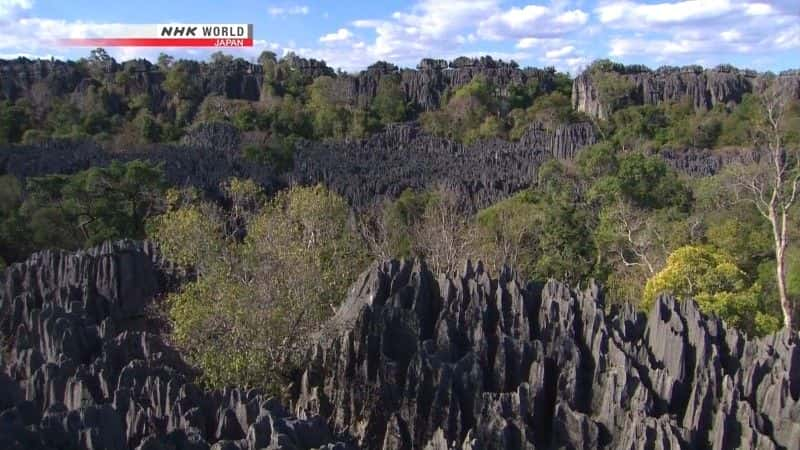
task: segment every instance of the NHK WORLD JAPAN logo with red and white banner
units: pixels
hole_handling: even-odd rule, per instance
[[[70,47],[252,47],[252,24],[173,23],[87,26],[80,36],[59,39]]]

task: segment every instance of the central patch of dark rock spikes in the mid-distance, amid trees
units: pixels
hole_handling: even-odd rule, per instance
[[[324,183],[356,207],[442,184],[476,209],[529,186],[543,161],[570,159],[596,139],[591,124],[578,123],[556,130],[532,126],[519,142],[463,145],[400,124],[365,140],[304,147],[289,181]]]

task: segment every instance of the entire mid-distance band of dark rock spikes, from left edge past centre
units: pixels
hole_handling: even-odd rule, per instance
[[[529,186],[543,160],[571,158],[596,139],[591,124],[579,123],[552,131],[533,126],[519,142],[490,140],[465,146],[408,123],[365,140],[301,142],[294,169],[277,174],[239,155],[240,138],[233,126],[213,123],[190,130],[180,146],[124,153],[70,142],[0,148],[0,174],[27,178],[74,173],[114,159],[145,159],[163,163],[169,183],[212,194],[218,194],[220,183],[230,177],[251,178],[269,192],[290,183],[324,183],[361,207],[405,188],[444,183],[455,189],[466,209],[475,209]]]

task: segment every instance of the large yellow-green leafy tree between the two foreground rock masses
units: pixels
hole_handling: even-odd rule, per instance
[[[196,200],[150,221],[165,255],[198,269],[196,281],[168,298],[175,341],[207,385],[277,393],[362,270],[363,248],[345,201],[322,187],[281,191],[266,204],[251,181],[224,189],[246,222],[243,240],[219,210]]]

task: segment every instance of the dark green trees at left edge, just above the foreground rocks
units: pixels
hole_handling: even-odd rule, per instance
[[[143,238],[161,211],[163,171],[142,161],[73,175],[0,177],[0,248],[7,262],[41,248],[77,249],[109,239]]]

